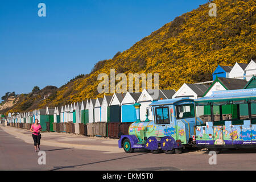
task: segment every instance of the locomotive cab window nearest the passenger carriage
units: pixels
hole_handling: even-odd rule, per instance
[[[176,118],[193,118],[195,117],[195,106],[193,104],[176,105]]]

